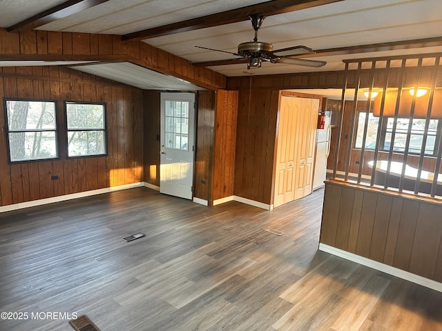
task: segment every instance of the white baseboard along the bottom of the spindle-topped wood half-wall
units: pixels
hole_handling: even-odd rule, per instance
[[[342,257],[343,259],[347,259],[349,261],[353,261],[362,265],[365,265],[369,268],[373,268],[387,274],[392,274],[395,277],[405,279],[406,281],[411,281],[412,283],[416,283],[426,288],[431,288],[432,290],[436,290],[438,292],[442,292],[442,283],[437,281],[433,281],[432,279],[427,279],[425,277],[419,276],[417,274],[412,274],[411,272],[407,272],[405,270],[401,270],[398,268],[394,268],[391,265],[386,265],[381,262],[373,261],[367,259],[366,257],[361,257],[360,255],[356,255],[345,250],[340,250],[339,248],[335,248],[329,245],[325,245],[324,243],[319,244],[319,250],[323,252],[327,252],[329,254],[336,255],[337,257]]]

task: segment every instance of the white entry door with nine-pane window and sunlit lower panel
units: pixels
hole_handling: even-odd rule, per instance
[[[195,94],[161,94],[160,192],[192,199]]]

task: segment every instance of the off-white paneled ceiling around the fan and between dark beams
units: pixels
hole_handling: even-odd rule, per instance
[[[0,25],[12,26],[62,2],[64,1],[0,0]],[[109,0],[77,14],[52,21],[38,29],[127,34],[262,2],[267,1]],[[345,0],[269,16],[262,24],[258,39],[273,43],[274,49],[305,45],[315,50],[441,37],[441,12],[441,0]],[[189,61],[211,61],[231,59],[235,56],[202,50],[195,46],[236,52],[238,43],[252,39],[251,23],[242,21],[147,39],[144,42]],[[262,68],[255,70],[247,70],[245,64],[209,68],[227,76],[343,70],[343,59],[430,52],[442,52],[442,46],[310,58],[327,61],[325,67],[317,69],[279,63],[264,63]],[[109,66],[116,65],[106,65],[102,71],[105,71],[104,68],[108,70]],[[91,66],[90,70],[93,70]]]

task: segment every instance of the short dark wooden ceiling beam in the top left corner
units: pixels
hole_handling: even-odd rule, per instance
[[[6,28],[6,30],[8,32],[25,32],[32,30],[52,21],[56,21],[57,19],[64,19],[64,17],[68,17],[69,15],[87,10],[88,8],[97,6],[106,1],[108,0],[69,0],[10,26],[9,28]]]

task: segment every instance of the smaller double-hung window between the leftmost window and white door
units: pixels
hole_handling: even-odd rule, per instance
[[[104,103],[66,102],[68,157],[106,155]]]

